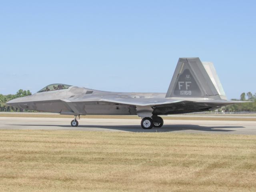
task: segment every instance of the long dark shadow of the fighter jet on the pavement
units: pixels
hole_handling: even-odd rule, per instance
[[[207,132],[232,132],[235,130],[227,130],[225,128],[244,128],[243,126],[200,126],[200,125],[188,125],[188,124],[175,124],[164,125],[161,128],[142,129],[140,125],[79,125],[78,127],[71,127],[70,125],[35,125],[35,124],[13,124],[12,126],[45,126],[45,127],[60,127],[64,130],[97,130],[97,128],[122,130],[128,132],[172,132],[172,131],[184,131],[184,130],[196,130]]]

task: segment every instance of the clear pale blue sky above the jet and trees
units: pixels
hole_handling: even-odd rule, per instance
[[[1,1],[0,93],[52,83],[166,92],[179,57],[256,92],[255,1]]]

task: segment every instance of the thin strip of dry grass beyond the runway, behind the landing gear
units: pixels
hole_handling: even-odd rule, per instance
[[[209,116],[210,115],[210,116]],[[170,119],[170,120],[232,120],[232,121],[256,121],[255,114],[248,114],[248,115],[225,115],[225,114],[218,114],[218,115],[196,115],[193,116],[162,116],[163,119]],[[44,117],[44,118],[73,118],[72,115],[60,115],[60,114],[48,114],[48,113],[0,113],[0,117]],[[248,118],[250,117],[250,118]],[[138,116],[134,115],[81,115],[81,118],[107,118],[107,119],[141,119]]]

